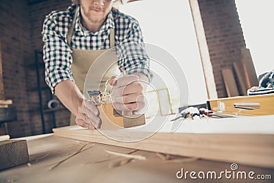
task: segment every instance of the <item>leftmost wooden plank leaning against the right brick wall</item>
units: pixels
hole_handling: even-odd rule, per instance
[[[239,95],[237,84],[232,72],[232,69],[222,69],[223,82],[228,97],[235,97]]]

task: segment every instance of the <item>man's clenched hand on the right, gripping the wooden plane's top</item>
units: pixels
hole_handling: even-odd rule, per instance
[[[118,80],[110,79],[112,99],[116,110],[140,111],[145,108],[144,86],[138,75],[125,75]]]

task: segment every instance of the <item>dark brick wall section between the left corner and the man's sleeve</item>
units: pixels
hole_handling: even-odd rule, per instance
[[[29,1],[28,3],[28,14],[29,14],[29,35],[31,40],[31,45],[33,50],[42,51],[42,23],[45,19],[45,16],[53,10],[66,10],[66,8],[71,5],[71,0],[45,0],[45,1]],[[39,62],[42,62],[42,55],[39,55]],[[33,53],[34,57],[34,53]],[[34,63],[34,59],[32,60]],[[44,103],[43,108],[47,109],[47,102],[52,97],[50,96],[50,91],[47,88],[45,83],[45,69],[42,67],[40,70],[40,83],[42,85],[42,101]],[[34,81],[35,80],[35,81]],[[36,82],[36,73],[29,72],[27,76],[27,82],[29,84]],[[33,86],[29,86],[33,87]],[[30,106],[32,108],[39,108],[38,103],[38,93],[36,95],[32,94],[32,99],[29,99]],[[47,111],[47,110],[46,110]],[[69,125],[70,112],[69,110],[58,110],[55,111],[55,122],[57,127],[64,125]],[[32,121],[40,121],[36,123],[36,132],[42,133],[42,124],[40,119],[40,112],[32,112],[31,116]],[[46,132],[51,132],[53,127],[53,116],[51,112],[45,112],[45,130]]]

